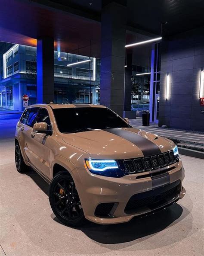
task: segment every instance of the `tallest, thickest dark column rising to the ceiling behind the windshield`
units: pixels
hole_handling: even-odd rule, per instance
[[[126,12],[124,5],[103,1],[100,104],[121,116],[124,110]]]

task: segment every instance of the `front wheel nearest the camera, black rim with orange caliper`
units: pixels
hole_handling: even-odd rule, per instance
[[[49,187],[49,203],[53,213],[63,224],[77,227],[85,217],[74,180],[67,171],[54,176]]]

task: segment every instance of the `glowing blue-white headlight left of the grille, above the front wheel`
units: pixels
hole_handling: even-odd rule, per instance
[[[85,159],[85,163],[90,171],[103,172],[105,170],[118,169],[118,165],[115,160]]]

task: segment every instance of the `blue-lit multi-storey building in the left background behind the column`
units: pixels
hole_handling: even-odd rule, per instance
[[[1,51],[0,56],[0,107],[22,111],[24,94],[29,96],[29,105],[37,103],[37,50],[25,45],[3,49],[6,51]],[[99,103],[100,60],[91,58],[90,69],[89,62],[67,67],[68,64],[88,59],[86,56],[54,51],[56,103]]]

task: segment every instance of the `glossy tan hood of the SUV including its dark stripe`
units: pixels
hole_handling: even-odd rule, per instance
[[[113,128],[63,134],[66,143],[93,159],[146,157],[172,150],[174,143],[137,128]]]

